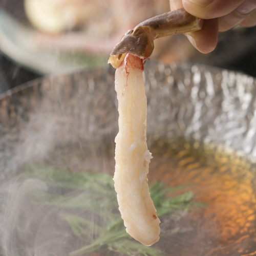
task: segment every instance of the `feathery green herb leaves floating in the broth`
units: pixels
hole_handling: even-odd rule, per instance
[[[122,255],[164,255],[156,247],[146,247],[130,238],[126,233],[123,220],[117,210],[118,204],[114,191],[113,176],[109,174],[69,173],[46,166],[31,166],[26,175],[45,181],[55,188],[54,193],[48,193],[44,199],[33,199],[33,203],[64,207],[66,209],[83,209],[84,218],[63,211],[60,215],[71,227],[75,236],[84,241],[84,247],[70,252],[71,256],[91,252],[100,252],[101,248]],[[56,188],[61,188],[56,193]],[[151,187],[151,196],[157,208],[158,216],[174,214],[176,210],[187,211],[198,205],[191,201],[194,197],[191,191],[170,197],[183,187],[167,187],[157,181]],[[75,191],[74,194],[71,192]],[[91,214],[98,216],[100,221],[92,222]],[[90,230],[93,229],[93,234]],[[113,254],[111,254],[113,255]]]

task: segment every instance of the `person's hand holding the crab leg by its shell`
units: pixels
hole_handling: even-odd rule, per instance
[[[204,19],[202,30],[187,33],[191,44],[202,53],[213,51],[218,31],[227,31],[237,25],[256,25],[255,0],[169,0],[171,11],[184,8],[190,14]]]

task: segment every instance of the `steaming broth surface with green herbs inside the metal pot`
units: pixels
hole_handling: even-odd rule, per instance
[[[148,179],[161,220],[158,243],[144,247],[127,235],[112,175],[90,170],[72,174],[33,165],[8,184],[12,198],[19,200],[18,205],[10,202],[16,207],[10,218],[17,218],[10,231],[10,237],[15,233],[16,238],[9,241],[12,248],[15,245],[14,255],[27,255],[28,250],[35,255],[124,255],[114,249],[130,251],[127,255],[213,256],[248,255],[256,250],[252,182],[256,167],[249,160],[181,138],[151,141],[151,151],[154,159]],[[157,181],[163,184],[158,190]],[[162,215],[166,208],[156,198],[171,187],[165,196],[173,198],[168,205],[172,209]]]

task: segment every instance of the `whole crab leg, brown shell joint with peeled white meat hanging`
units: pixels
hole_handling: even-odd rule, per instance
[[[127,233],[143,245],[159,240],[160,220],[147,185],[152,158],[146,144],[146,95],[143,64],[154,50],[154,39],[201,29],[200,19],[184,9],[145,20],[127,31],[111,52],[116,68],[119,133],[116,136],[115,190]]]

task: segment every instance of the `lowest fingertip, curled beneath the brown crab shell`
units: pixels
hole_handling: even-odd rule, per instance
[[[218,42],[218,19],[204,20],[201,30],[186,34],[191,44],[202,53],[212,52]]]

